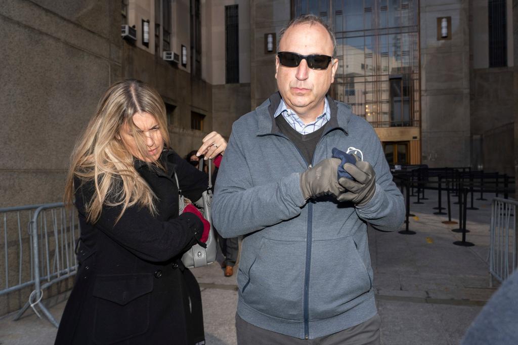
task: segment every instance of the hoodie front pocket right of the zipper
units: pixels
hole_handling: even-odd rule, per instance
[[[372,280],[352,237],[313,241],[310,320],[334,317],[361,303]]]

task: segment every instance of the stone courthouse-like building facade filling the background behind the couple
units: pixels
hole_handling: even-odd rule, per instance
[[[77,137],[104,90],[123,78],[159,90],[178,153],[197,148],[210,131],[228,138],[232,123],[277,89],[280,29],[309,12],[329,20],[339,38],[341,69],[330,92],[372,123],[388,160],[514,175],[516,6],[512,0],[2,1],[0,207],[62,199]],[[505,27],[499,43],[505,61],[500,56],[497,63],[490,9],[500,38]],[[121,25],[134,26],[136,39],[123,39]],[[164,60],[164,52],[177,62]],[[0,314],[19,309],[29,292],[0,296]]]

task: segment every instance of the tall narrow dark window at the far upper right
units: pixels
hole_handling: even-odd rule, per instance
[[[507,66],[506,0],[489,0],[489,66]]]

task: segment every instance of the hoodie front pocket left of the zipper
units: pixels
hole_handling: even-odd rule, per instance
[[[305,241],[261,240],[260,249],[241,282],[249,307],[271,317],[303,319]]]

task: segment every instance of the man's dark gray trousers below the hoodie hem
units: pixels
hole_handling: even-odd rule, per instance
[[[271,332],[252,325],[236,313],[238,345],[380,345],[379,314],[369,320],[328,336],[305,340]]]

